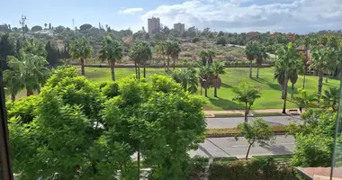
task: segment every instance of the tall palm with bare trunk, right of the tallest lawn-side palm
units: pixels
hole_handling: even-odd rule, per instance
[[[318,94],[319,100],[320,95],[322,94],[322,86],[323,86],[323,74],[329,71],[330,61],[332,59],[332,49],[330,48],[319,48],[315,49],[312,53],[311,60],[311,69],[314,69],[318,72],[319,76],[319,85],[318,85]]]

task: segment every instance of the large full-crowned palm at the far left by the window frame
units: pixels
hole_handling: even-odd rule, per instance
[[[23,50],[20,52],[20,58],[9,56],[8,67],[4,71],[4,81],[14,82],[18,87],[12,88],[12,94],[17,93],[18,89],[26,88],[27,96],[33,94],[34,90],[39,90],[50,76],[47,65],[49,64],[45,58],[37,55],[26,54]],[[16,78],[14,80],[13,78]],[[11,86],[11,85],[10,85]],[[14,98],[12,96],[12,98]]]

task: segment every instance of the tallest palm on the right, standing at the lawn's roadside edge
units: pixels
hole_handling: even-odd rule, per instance
[[[286,113],[287,83],[290,75],[301,67],[302,60],[298,59],[298,52],[293,48],[293,43],[287,45],[287,49],[277,51],[278,59],[275,61],[275,78],[283,86],[284,107],[283,113]]]

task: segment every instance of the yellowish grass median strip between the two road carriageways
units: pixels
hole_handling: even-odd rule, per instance
[[[279,132],[287,132],[288,126],[285,125],[278,125],[278,126],[271,126],[271,129],[275,133]],[[236,137],[241,134],[241,131],[238,128],[218,128],[218,129],[207,129],[205,131],[205,136],[207,137],[221,137],[221,136],[229,136],[229,137]]]

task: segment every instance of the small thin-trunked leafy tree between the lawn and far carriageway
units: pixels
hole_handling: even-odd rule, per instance
[[[261,90],[258,87],[248,85],[246,82],[242,82],[233,89],[236,95],[233,101],[238,103],[244,103],[245,105],[245,122],[248,121],[248,114],[253,103],[261,97]]]

